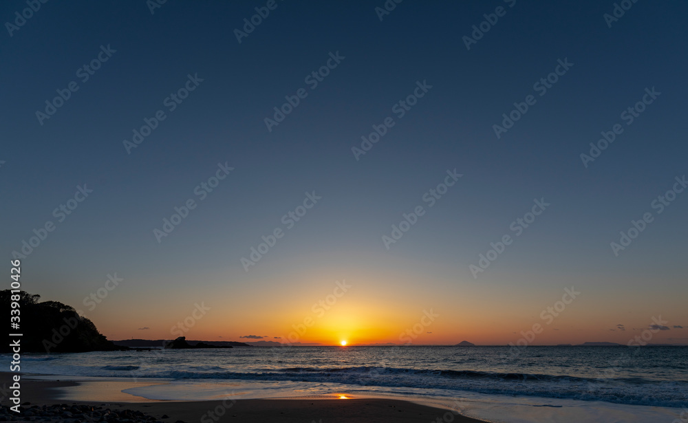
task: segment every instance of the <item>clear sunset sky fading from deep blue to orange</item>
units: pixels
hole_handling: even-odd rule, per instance
[[[685,2],[39,3],[0,243],[109,339],[688,344]]]

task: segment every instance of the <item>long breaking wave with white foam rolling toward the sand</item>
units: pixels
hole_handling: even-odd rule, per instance
[[[616,404],[688,406],[688,382],[666,382],[643,378],[579,378],[531,373],[493,373],[395,367],[290,367],[265,371],[157,371],[141,377],[173,379],[261,380],[330,382],[365,387],[404,387],[472,391],[500,395],[528,395]]]

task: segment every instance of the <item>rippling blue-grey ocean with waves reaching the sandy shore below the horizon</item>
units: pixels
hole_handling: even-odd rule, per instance
[[[491,421],[534,421],[526,420],[535,415],[528,410],[548,407],[548,413],[537,411],[550,415],[543,421],[568,421],[569,411],[587,411],[596,416],[590,421],[688,422],[688,347],[235,347],[27,354],[22,371],[165,380],[125,391],[155,400],[347,393],[442,404]],[[506,407],[511,411],[502,410]],[[597,420],[600,415],[605,420]]]

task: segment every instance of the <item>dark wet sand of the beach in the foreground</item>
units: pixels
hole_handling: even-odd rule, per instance
[[[10,373],[0,373],[3,406],[13,405],[5,390],[12,384]],[[216,422],[481,422],[452,411],[402,400],[379,398],[237,400],[237,401],[148,401],[120,393],[125,387],[147,382],[72,382],[21,380],[21,402],[30,405],[74,403],[103,406],[112,410],[129,409],[153,415],[165,423]],[[65,393],[68,393],[65,396]],[[109,398],[109,400],[106,400]],[[130,402],[129,402],[130,401]],[[211,414],[212,413],[212,414]],[[162,415],[169,417],[162,418]]]

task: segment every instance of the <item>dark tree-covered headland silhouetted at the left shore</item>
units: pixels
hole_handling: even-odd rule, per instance
[[[79,316],[74,307],[58,301],[39,303],[40,295],[21,291],[12,294],[10,290],[0,291],[2,310],[12,310],[12,303],[19,303],[21,321],[19,330],[3,330],[0,352],[10,352],[9,333],[19,332],[21,352],[87,352],[127,349],[111,343],[98,332],[89,319]],[[9,313],[8,313],[9,314]]]

